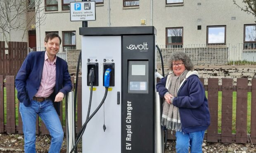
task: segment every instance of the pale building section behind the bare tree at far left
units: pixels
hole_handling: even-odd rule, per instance
[[[29,46],[36,47],[35,0],[1,1],[0,5],[0,41],[5,46],[7,42],[30,42]]]

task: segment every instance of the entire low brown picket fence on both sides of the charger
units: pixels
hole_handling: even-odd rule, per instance
[[[6,76],[6,82],[3,81],[4,77],[0,76],[0,133],[20,133],[22,134],[22,122],[20,115],[18,116],[18,125],[15,124],[15,86],[14,76]],[[74,84],[74,78],[72,77],[72,83]],[[78,132],[82,125],[82,91],[81,80],[78,79],[78,97],[77,97],[77,127]],[[201,78],[204,82],[204,79]],[[6,88],[6,125],[4,125],[4,91]],[[251,85],[248,85],[248,79],[237,79],[237,86],[233,86],[233,79],[222,79],[222,85],[218,85],[218,79],[208,79],[208,85],[204,86],[208,92],[209,109],[211,114],[211,125],[209,126],[205,138],[208,142],[226,142],[245,144],[247,142],[256,143],[256,79],[252,79]],[[218,91],[222,91],[222,114],[221,114],[221,133],[218,133]],[[237,92],[236,103],[236,133],[232,133],[232,101],[233,92]],[[251,133],[247,133],[247,94],[251,92]],[[62,104],[65,104],[62,102]],[[62,107],[61,107],[62,108]],[[62,110],[61,110],[62,112]],[[121,115],[121,114],[120,114]],[[60,116],[62,121],[62,114]],[[63,127],[66,132],[66,127]],[[37,123],[37,134],[49,134],[45,128],[45,125],[41,123],[41,126]],[[168,139],[175,139],[175,134],[168,132]]]

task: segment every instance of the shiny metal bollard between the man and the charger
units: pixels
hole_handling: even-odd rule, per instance
[[[74,93],[66,95],[66,152],[70,153],[75,144]]]

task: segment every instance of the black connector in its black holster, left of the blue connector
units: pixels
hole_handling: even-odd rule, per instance
[[[99,63],[87,63],[87,86],[99,86]]]

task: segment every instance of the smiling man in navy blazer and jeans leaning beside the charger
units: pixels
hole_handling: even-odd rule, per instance
[[[61,38],[45,36],[46,51],[29,53],[15,79],[23,122],[25,153],[36,153],[36,117],[40,116],[52,137],[49,153],[58,153],[64,133],[59,121],[60,101],[72,89],[65,60],[56,56]]]

